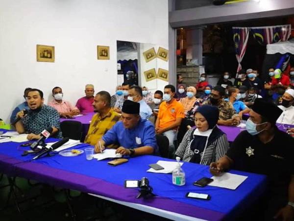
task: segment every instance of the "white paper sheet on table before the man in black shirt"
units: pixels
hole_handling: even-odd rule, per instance
[[[209,186],[221,187],[236,190],[247,178],[247,176],[237,175],[233,173],[222,173],[221,176],[213,176],[213,181]]]

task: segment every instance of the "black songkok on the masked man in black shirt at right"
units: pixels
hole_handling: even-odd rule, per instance
[[[252,111],[257,112],[258,114],[267,118],[267,120],[272,124],[275,124],[283,112],[275,104],[268,102],[264,98],[256,98],[254,100]]]

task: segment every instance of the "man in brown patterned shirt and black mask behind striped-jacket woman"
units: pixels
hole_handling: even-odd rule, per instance
[[[210,98],[203,102],[203,105],[213,105],[220,110],[220,116],[218,124],[225,126],[236,126],[240,124],[240,116],[236,113],[233,105],[225,101],[224,88],[220,85],[216,85],[210,94]]]

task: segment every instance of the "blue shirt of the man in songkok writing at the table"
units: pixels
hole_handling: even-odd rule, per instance
[[[132,129],[126,129],[123,126],[123,122],[118,121],[107,131],[102,139],[106,145],[118,143],[127,149],[150,146],[154,149],[153,154],[158,151],[154,125],[144,119],[140,119],[138,124]]]

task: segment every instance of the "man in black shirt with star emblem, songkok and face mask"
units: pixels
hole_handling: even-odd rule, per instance
[[[220,175],[221,171],[234,168],[247,172],[268,175],[268,190],[265,220],[274,216],[282,220],[294,219],[294,139],[275,126],[282,110],[274,104],[257,98],[246,131],[234,140],[226,155],[217,163],[211,163],[210,171]]]

